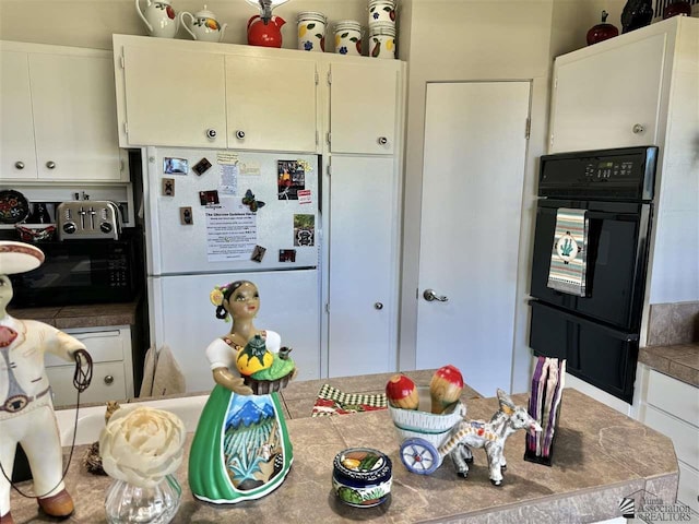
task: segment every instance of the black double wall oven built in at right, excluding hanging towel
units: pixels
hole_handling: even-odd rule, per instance
[[[541,157],[530,346],[574,377],[632,402],[657,147]],[[558,209],[585,210],[584,296],[547,287]]]

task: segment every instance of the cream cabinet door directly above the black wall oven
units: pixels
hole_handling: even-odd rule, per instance
[[[549,152],[655,144],[665,39],[558,59]]]

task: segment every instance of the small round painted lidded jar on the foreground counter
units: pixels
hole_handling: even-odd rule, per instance
[[[345,504],[371,508],[391,492],[391,460],[378,450],[350,448],[333,461],[332,486]]]

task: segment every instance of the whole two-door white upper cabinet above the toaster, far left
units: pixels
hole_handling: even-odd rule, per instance
[[[128,181],[111,55],[2,43],[0,179]]]

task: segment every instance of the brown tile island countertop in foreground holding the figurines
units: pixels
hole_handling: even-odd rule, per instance
[[[426,385],[430,373],[406,374],[418,385]],[[642,490],[664,503],[675,500],[678,469],[672,441],[573,389],[564,394],[553,466],[522,458],[524,432],[519,431],[505,448],[508,468],[499,488],[488,480],[483,450],[474,451],[475,462],[467,479],[457,476],[449,458],[431,475],[410,473],[400,461],[401,440],[388,410],[309,417],[319,384],[327,382],[344,392],[378,392],[388,377],[390,373],[292,383],[284,396],[291,415],[287,427],[294,444],[294,465],[284,484],[254,501],[203,503],[188,489],[185,458],[177,473],[182,500],[173,522],[582,523],[620,516],[619,500],[636,497]],[[497,400],[474,396],[470,389],[462,395],[469,417],[489,419],[497,409]],[[525,404],[526,395],[513,395],[513,400]],[[351,508],[332,492],[332,461],[337,452],[351,446],[379,449],[393,462],[392,492],[383,504]],[[67,476],[76,509],[66,522],[105,522],[104,497],[111,480],[86,473],[82,457],[87,448],[75,449]],[[64,449],[68,453],[69,449]],[[17,523],[54,522],[38,512],[35,501],[22,499],[14,491],[12,514]]]

